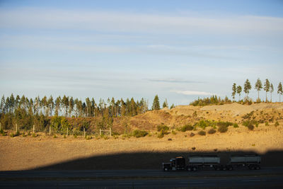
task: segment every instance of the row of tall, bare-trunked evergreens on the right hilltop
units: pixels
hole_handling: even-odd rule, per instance
[[[250,93],[252,86],[250,84],[250,81],[248,79],[246,79],[245,83],[243,84],[243,88],[242,86],[237,86],[236,83],[233,83],[232,86],[232,97],[233,97],[233,101],[235,101],[235,96],[236,93],[239,96],[239,100],[241,101],[241,93],[242,90],[244,93],[246,93],[246,100],[248,100],[248,94]],[[258,78],[258,80],[255,82],[255,90],[258,91],[258,99],[257,102],[261,102],[260,100],[260,91],[263,90],[266,92],[265,93],[265,102],[268,102],[267,99],[267,93],[270,93],[270,102],[272,102],[272,93],[274,92],[274,86],[272,83],[270,83],[270,81],[268,79],[265,79],[265,83],[262,85],[262,81],[260,81],[260,79]],[[279,102],[281,102],[281,96],[283,94],[283,89],[282,89],[282,83],[279,82],[278,86],[277,86],[277,93],[279,94]]]

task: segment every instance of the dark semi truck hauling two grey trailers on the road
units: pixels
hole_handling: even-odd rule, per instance
[[[233,170],[238,166],[247,166],[250,169],[260,169],[260,156],[258,155],[233,155],[229,157],[227,164],[221,164],[221,158],[216,155],[189,156],[186,160],[178,156],[170,160],[170,163],[163,163],[163,171],[197,171],[200,168],[212,167],[216,171]]]

